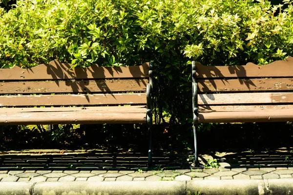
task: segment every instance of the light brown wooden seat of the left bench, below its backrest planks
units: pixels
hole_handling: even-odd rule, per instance
[[[146,106],[2,108],[1,125],[145,123]]]

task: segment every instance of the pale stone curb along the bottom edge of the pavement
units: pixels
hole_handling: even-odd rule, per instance
[[[291,195],[293,179],[3,182],[0,195]]]

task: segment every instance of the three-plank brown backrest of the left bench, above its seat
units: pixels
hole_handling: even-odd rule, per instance
[[[0,69],[0,107],[146,105],[149,63],[71,66],[54,60],[30,69]]]

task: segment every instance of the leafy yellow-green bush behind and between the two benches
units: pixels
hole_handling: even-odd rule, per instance
[[[0,67],[53,59],[83,67],[153,60],[155,122],[176,124],[172,131],[181,139],[178,131],[187,128],[178,124],[190,126],[190,61],[263,65],[292,55],[293,0],[284,4],[283,9],[268,0],[18,0],[9,11],[0,8]]]

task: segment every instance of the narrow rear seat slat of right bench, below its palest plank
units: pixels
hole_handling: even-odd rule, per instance
[[[243,111],[263,111],[263,110],[293,110],[293,105],[225,105],[225,106],[208,106],[200,105],[200,113],[209,112],[243,112]],[[293,114],[293,113],[292,113]]]

